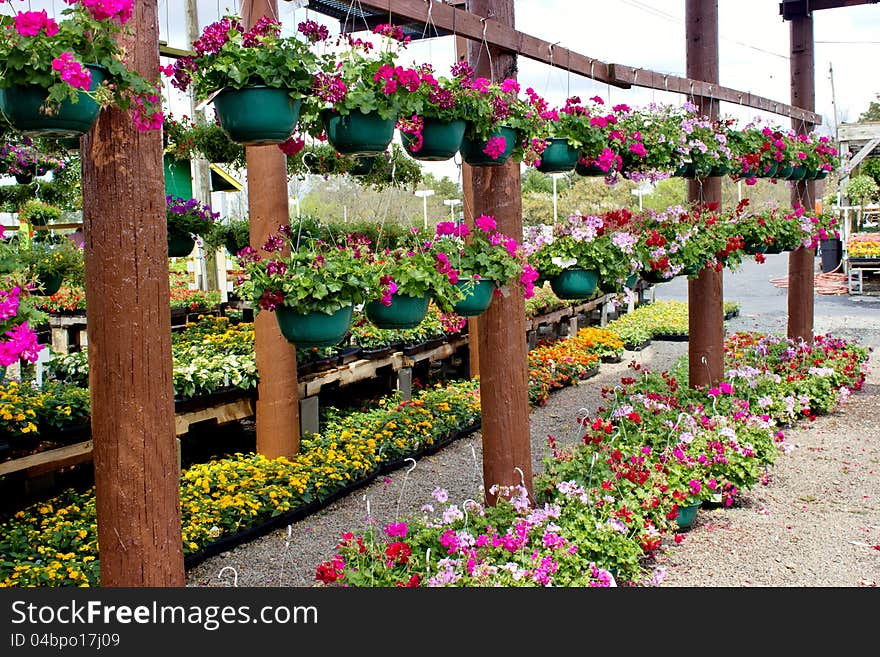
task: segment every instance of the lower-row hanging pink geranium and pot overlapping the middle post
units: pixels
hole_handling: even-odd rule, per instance
[[[516,240],[497,230],[494,217],[477,217],[474,226],[471,231],[467,225],[451,221],[437,224],[434,248],[458,272],[455,285],[464,294],[454,305],[455,313],[462,317],[482,314],[496,291],[506,295],[507,286],[514,282],[523,285],[526,298],[534,296],[531,283],[537,276],[532,276],[531,266],[521,261]]]

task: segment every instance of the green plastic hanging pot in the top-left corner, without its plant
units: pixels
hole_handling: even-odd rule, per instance
[[[107,79],[107,69],[103,66],[86,64],[92,72],[89,91],[98,88]],[[101,106],[83,91],[77,91],[77,102],[64,99],[58,111],[47,114],[40,111],[46,104],[49,94],[38,84],[13,84],[0,89],[0,111],[12,127],[26,135],[37,137],[78,137],[91,130]]]

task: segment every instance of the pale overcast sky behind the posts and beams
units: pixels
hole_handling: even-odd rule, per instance
[[[12,4],[46,8],[50,14],[64,7],[62,0]],[[299,4],[304,3],[300,0]],[[718,5],[720,83],[789,102],[789,26],[779,16],[778,0],[719,0]],[[2,11],[10,11],[5,3],[0,6]],[[159,21],[161,38],[171,46],[186,48],[183,6],[183,0],[159,0]],[[198,0],[199,23],[204,26],[226,13],[238,13],[239,7],[236,0]],[[588,57],[683,76],[684,8],[684,0],[517,0],[515,15],[518,29]],[[327,24],[331,32],[338,31],[338,22],[308,7],[298,8],[294,2],[279,0],[279,13],[287,33],[292,34],[306,18]],[[857,120],[880,93],[880,66],[876,65],[880,59],[880,4],[815,12],[814,38],[816,111],[825,117],[819,130],[833,134],[837,123]],[[415,42],[406,56],[417,62],[430,61],[445,74],[454,61],[453,43],[452,37]],[[612,103],[634,107],[684,100],[663,91],[608,87],[526,58],[519,61],[519,80],[524,88],[531,86],[559,105],[568,94],[583,98],[598,94]],[[173,96],[172,111],[187,112],[188,102],[170,85],[166,85],[166,93]],[[732,103],[722,103],[721,112],[743,123],[757,115],[780,124],[787,122]],[[454,177],[454,166],[448,163],[427,168]]]

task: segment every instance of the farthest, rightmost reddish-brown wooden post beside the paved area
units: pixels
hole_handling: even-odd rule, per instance
[[[791,102],[813,110],[816,106],[816,76],[813,58],[813,17],[797,16],[789,26],[791,41]],[[813,125],[792,119],[798,134],[808,133]],[[798,180],[791,188],[792,206],[803,205],[813,211],[816,183]],[[815,249],[799,248],[788,255],[788,337],[813,341],[813,295]]]

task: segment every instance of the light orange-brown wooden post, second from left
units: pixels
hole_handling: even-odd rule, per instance
[[[242,17],[248,27],[263,16],[278,16],[277,0],[245,0]],[[275,145],[248,146],[248,211],[251,246],[261,255],[266,238],[290,224],[287,208],[287,159]],[[285,250],[282,255],[288,255]],[[260,383],[257,388],[257,452],[269,458],[299,451],[299,396],[296,350],[278,328],[275,314],[257,313],[254,337]]]

